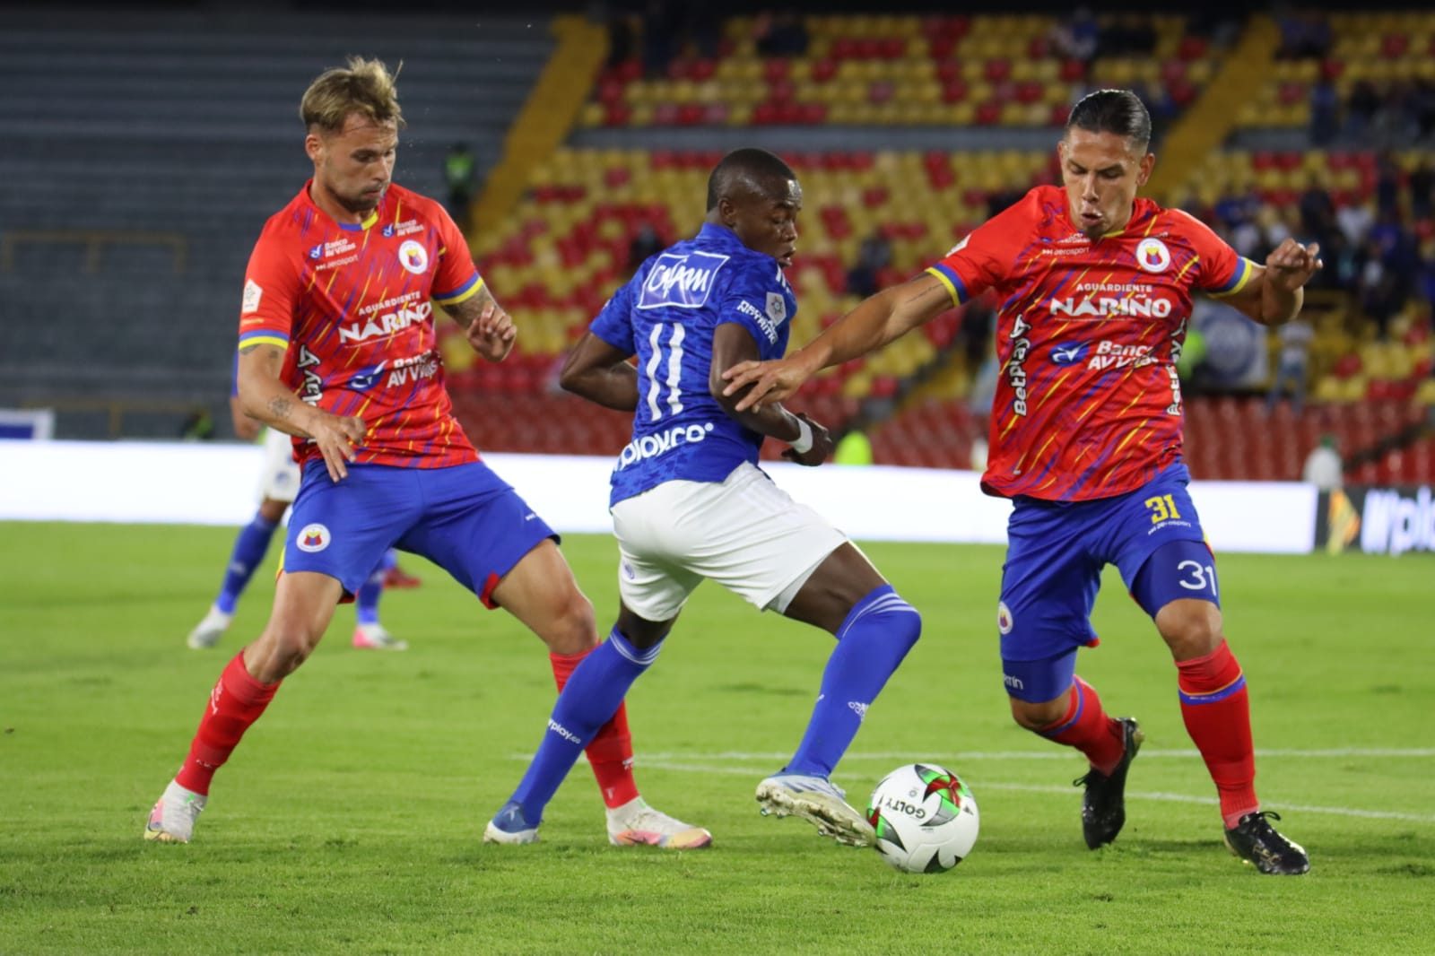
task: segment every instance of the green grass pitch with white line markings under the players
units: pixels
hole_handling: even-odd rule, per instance
[[[1125,833],[1091,853],[1069,785],[1083,761],[1007,716],[1000,548],[870,545],[926,627],[837,782],[862,804],[921,758],[970,782],[976,850],[924,877],[758,814],[829,639],[713,586],[629,698],[644,794],[713,848],[610,847],[583,764],[542,843],[484,845],[552,678],[537,639],[418,558],[423,587],[383,603],[412,649],[353,650],[340,609],[217,777],[195,841],[144,843],[270,574],[221,649],[192,652],[230,530],[0,524],[0,953],[1435,952],[1435,564],[1418,556],[1220,560],[1257,784],[1313,861],[1274,878],[1221,845],[1170,657],[1115,574],[1079,670],[1147,744]],[[606,627],[611,541],[564,550]]]

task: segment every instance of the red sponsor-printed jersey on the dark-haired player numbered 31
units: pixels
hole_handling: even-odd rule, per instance
[[[1036,187],[927,270],[957,304],[997,297],[1000,363],[982,485],[1002,497],[1108,498],[1181,455],[1175,363],[1195,290],[1240,291],[1253,264],[1180,210],[1137,200],[1091,240],[1066,192]]]

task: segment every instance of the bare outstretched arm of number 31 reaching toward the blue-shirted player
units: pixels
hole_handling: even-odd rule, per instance
[[[723,395],[736,396],[746,389],[735,406],[739,412],[781,402],[821,369],[875,352],[947,309],[951,309],[951,294],[946,286],[923,273],[862,300],[827,332],[785,359],[749,360],[728,367],[722,375],[728,382]]]

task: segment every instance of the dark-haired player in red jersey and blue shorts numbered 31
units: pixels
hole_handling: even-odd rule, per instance
[[[1125,823],[1141,744],[1075,676],[1095,646],[1101,570],[1116,564],[1177,666],[1181,713],[1215,782],[1227,845],[1261,873],[1310,868],[1256,798],[1246,679],[1225,643],[1215,561],[1187,494],[1175,363],[1197,291],[1263,324],[1300,311],[1319,248],[1286,240],[1257,264],[1180,210],[1137,198],[1151,116],[1128,90],[1073,109],[1063,187],[1036,187],[911,281],[877,293],[804,349],[729,369],[738,408],[791,396],[818,369],[872,352],[984,290],[1002,367],[983,488],[1013,500],[997,630],[1017,723],[1079,749],[1092,848]]]

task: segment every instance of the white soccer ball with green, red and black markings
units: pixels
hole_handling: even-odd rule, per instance
[[[908,764],[883,777],[867,801],[877,853],[905,873],[943,873],[977,841],[980,815],[971,791],[936,764]]]

